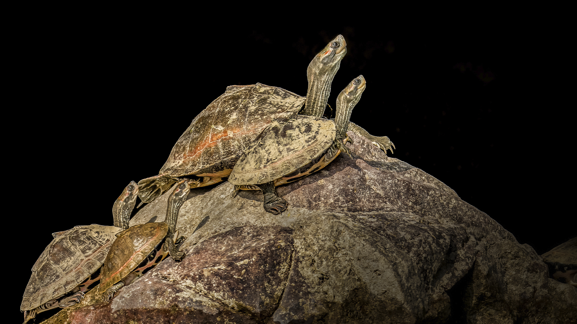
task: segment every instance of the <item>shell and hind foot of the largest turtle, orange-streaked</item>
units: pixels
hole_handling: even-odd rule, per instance
[[[297,115],[304,103],[305,97],[275,86],[260,83],[228,86],[178,139],[160,169],[159,175],[163,177],[138,182],[140,198],[150,202],[170,189],[175,182],[171,177],[193,175],[220,182],[265,127],[273,120]],[[215,182],[200,182],[192,187]]]

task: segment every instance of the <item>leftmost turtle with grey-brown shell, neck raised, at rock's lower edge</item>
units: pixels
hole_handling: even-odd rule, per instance
[[[114,202],[114,226],[79,225],[56,232],[38,261],[24,291],[20,310],[24,323],[36,314],[53,308],[72,306],[100,280],[100,266],[116,239],[128,228],[130,213],[138,197],[138,184],[132,181]]]

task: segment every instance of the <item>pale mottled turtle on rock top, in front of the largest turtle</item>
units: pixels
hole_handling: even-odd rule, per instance
[[[238,190],[261,190],[264,210],[279,214],[287,201],[276,194],[275,186],[301,179],[319,171],[345,152],[349,140],[347,127],[354,106],[365,91],[361,75],[340,92],[334,121],[316,116],[295,116],[286,122],[272,123],[249,146],[228,177]]]

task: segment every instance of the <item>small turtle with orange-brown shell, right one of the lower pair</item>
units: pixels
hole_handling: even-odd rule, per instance
[[[190,192],[188,182],[189,179],[182,179],[175,185],[168,197],[163,222],[134,225],[117,235],[102,267],[99,292],[105,300],[111,299],[119,289],[147,273],[169,253],[175,261],[184,257],[185,254],[178,251],[177,244],[185,238],[181,236],[177,239],[176,225],[178,211]]]

